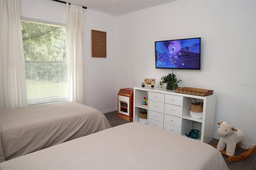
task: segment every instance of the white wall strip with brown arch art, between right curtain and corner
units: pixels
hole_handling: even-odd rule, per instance
[[[101,12],[84,12],[84,59],[86,105],[102,113],[116,111],[116,40],[117,18]],[[91,30],[107,32],[107,57],[91,55]]]

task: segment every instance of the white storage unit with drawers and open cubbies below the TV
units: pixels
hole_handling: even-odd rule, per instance
[[[143,97],[148,97],[148,107],[142,106]],[[189,98],[204,102],[203,118],[190,116]],[[197,96],[175,93],[160,87],[134,87],[133,121],[138,122],[140,109],[148,111],[147,124],[186,136],[191,129],[200,130],[200,138],[208,143],[213,138],[216,95]]]

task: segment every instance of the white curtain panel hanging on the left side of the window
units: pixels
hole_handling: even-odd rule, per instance
[[[0,0],[0,109],[27,106],[19,0]]]

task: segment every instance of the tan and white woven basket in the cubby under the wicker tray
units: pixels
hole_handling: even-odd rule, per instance
[[[196,102],[192,102],[191,99],[194,99],[194,98],[191,98],[191,97],[189,98],[189,100],[191,101],[191,106],[189,109],[190,116],[196,119],[202,119],[204,103],[197,102],[196,99],[194,99]]]

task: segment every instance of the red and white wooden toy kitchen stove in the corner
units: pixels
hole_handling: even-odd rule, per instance
[[[133,121],[133,89],[119,90],[117,116],[126,121]]]

